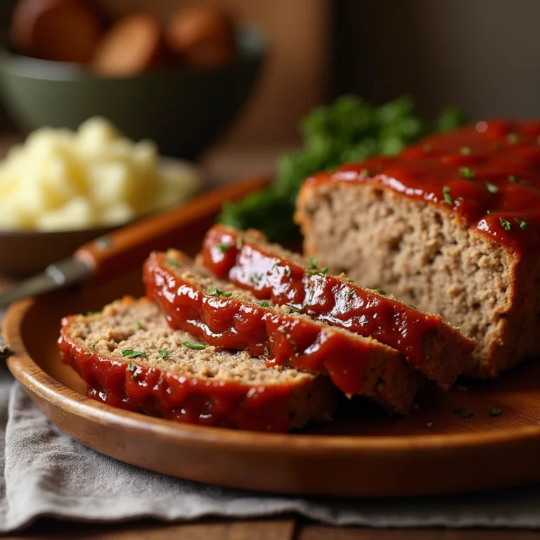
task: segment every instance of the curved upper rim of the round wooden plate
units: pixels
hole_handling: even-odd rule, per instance
[[[163,418],[147,416],[142,413],[117,409],[108,404],[90,399],[75,390],[66,387],[60,381],[46,373],[27,352],[22,323],[32,306],[39,302],[37,298],[28,298],[11,304],[6,311],[2,324],[2,333],[13,352],[8,357],[7,365],[15,379],[25,390],[44,399],[68,413],[84,416],[96,422],[108,420],[122,428],[130,430],[150,430],[160,437],[182,441],[193,446],[208,443],[219,443],[227,449],[245,449],[252,451],[279,451],[302,454],[309,451],[333,455],[336,452],[350,454],[355,452],[383,452],[385,454],[401,454],[403,451],[431,452],[437,449],[444,451],[463,451],[468,448],[477,450],[500,444],[512,444],[529,439],[540,438],[540,426],[524,425],[515,428],[490,430],[487,432],[470,432],[456,434],[422,434],[422,435],[312,435],[303,433],[269,433],[248,430],[229,430],[209,426],[176,423]],[[44,381],[36,376],[40,375]],[[46,381],[46,382],[45,382]],[[62,392],[58,392],[61,387]]]

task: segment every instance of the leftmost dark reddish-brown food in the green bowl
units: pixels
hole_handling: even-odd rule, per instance
[[[98,18],[77,0],[19,0],[11,40],[27,56],[86,63],[98,42]]]

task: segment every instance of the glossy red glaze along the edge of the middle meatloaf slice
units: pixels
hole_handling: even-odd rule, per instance
[[[186,261],[179,263],[189,267]],[[368,341],[285,311],[209,295],[195,280],[182,278],[181,269],[170,269],[162,253],[150,256],[143,274],[147,297],[158,303],[172,328],[210,345],[265,355],[268,364],[328,374],[342,392],[360,392],[372,348]]]

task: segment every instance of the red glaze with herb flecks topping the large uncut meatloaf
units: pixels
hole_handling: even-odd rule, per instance
[[[477,122],[430,136],[396,157],[317,174],[306,184],[364,182],[442,205],[519,258],[524,250],[540,248],[539,137],[540,122]],[[461,167],[468,167],[474,178],[463,178]]]

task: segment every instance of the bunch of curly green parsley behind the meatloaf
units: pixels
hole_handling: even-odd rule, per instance
[[[240,202],[226,203],[219,221],[238,229],[261,229],[270,240],[298,237],[293,213],[304,179],[345,162],[396,155],[425,135],[451,131],[463,123],[455,108],[444,110],[437,122],[420,120],[410,98],[375,107],[359,96],[341,96],[332,105],[315,108],[302,120],[302,149],[281,155],[276,182]]]

